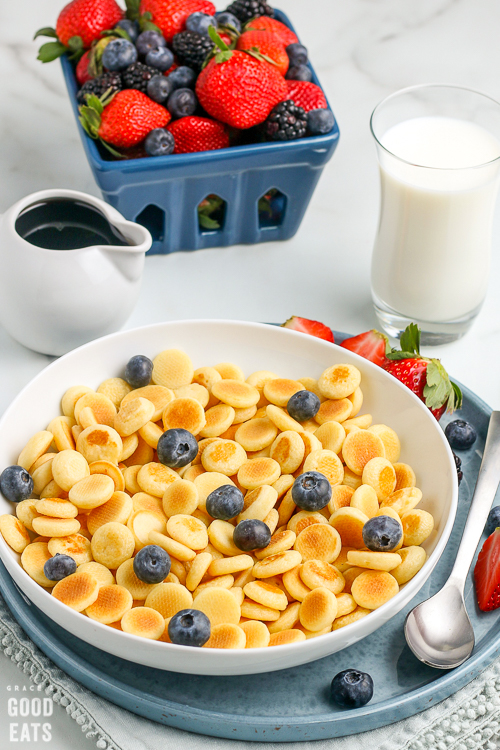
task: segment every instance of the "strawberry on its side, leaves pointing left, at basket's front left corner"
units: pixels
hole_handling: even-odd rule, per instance
[[[119,91],[112,98],[87,97],[80,107],[80,122],[86,133],[100,140],[114,156],[122,154],[107,144],[130,148],[140,143],[151,130],[164,128],[170,112],[137,89]]]

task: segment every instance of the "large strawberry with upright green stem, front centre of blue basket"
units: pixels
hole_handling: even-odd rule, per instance
[[[218,51],[196,81],[201,106],[214,119],[245,129],[264,122],[286,97],[286,83],[275,65],[255,52],[230,50],[209,27]]]

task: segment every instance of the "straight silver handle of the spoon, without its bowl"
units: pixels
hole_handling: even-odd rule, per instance
[[[479,469],[476,488],[471,501],[467,523],[449,581],[463,590],[465,579],[484,531],[491,504],[500,483],[500,411],[490,417],[483,460]]]

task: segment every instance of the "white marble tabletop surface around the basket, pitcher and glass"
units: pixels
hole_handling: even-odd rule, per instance
[[[98,195],[60,66],[42,66],[38,43],[30,41],[36,29],[55,24],[61,6],[61,0],[0,4],[0,212],[44,188]],[[301,229],[286,243],[148,258],[141,298],[127,327],[198,317],[283,322],[293,314],[353,333],[375,326],[369,291],[378,214],[368,127],[373,107],[399,88],[430,82],[470,86],[500,99],[496,0],[281,0],[279,7],[309,48],[341,131]],[[486,303],[466,338],[432,350],[456,379],[497,408],[499,250],[497,210]],[[0,412],[47,362],[0,326]],[[7,686],[23,684],[29,684],[27,678],[0,657],[0,750],[92,747],[58,706],[50,743],[10,742],[4,731],[6,697],[15,693]]]

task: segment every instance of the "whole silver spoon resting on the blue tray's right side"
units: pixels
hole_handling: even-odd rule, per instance
[[[408,646],[417,659],[430,667],[458,667],[469,658],[474,648],[474,630],[464,602],[465,579],[499,482],[500,412],[494,411],[469,516],[451,575],[437,594],[412,609],[406,618]]]

